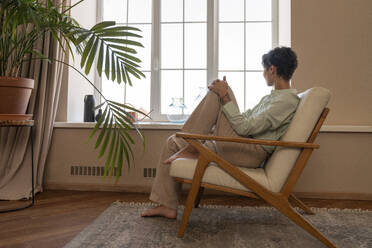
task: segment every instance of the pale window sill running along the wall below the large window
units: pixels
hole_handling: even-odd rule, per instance
[[[96,123],[93,122],[55,122],[54,128],[75,128],[75,129],[92,129]],[[180,130],[183,124],[171,122],[138,122],[139,129],[153,129],[153,130]],[[372,126],[341,126],[341,125],[324,125],[320,129],[321,133],[372,133]]]

